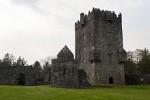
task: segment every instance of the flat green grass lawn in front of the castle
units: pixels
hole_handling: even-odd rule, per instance
[[[150,85],[98,85],[89,89],[0,85],[0,100],[150,100]]]

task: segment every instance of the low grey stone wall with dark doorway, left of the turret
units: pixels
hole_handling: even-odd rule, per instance
[[[34,68],[31,66],[0,66],[0,84],[35,85]]]

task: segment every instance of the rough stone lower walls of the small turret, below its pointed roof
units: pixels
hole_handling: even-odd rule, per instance
[[[72,62],[53,63],[51,84],[59,88],[79,88],[77,64]]]

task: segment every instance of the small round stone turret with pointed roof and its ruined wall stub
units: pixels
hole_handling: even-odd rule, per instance
[[[85,88],[90,84],[86,80],[86,73],[78,69],[78,62],[73,53],[65,46],[52,60],[51,85],[59,88]]]

